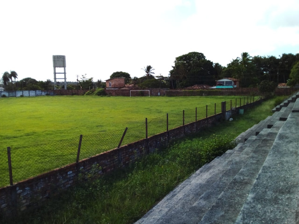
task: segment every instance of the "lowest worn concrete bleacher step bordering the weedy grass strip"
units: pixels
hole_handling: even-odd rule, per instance
[[[264,132],[270,132],[270,129]],[[248,141],[250,143],[239,144],[229,152],[229,156],[224,154],[225,162],[216,162],[210,165],[209,170],[208,165],[204,166],[204,171],[200,169],[193,174],[137,223],[182,223],[182,220],[192,223],[192,220],[200,220],[222,193],[223,186],[231,182],[254,150],[259,151],[257,146],[263,141],[262,136],[252,136]],[[210,189],[214,189],[213,192]]]

